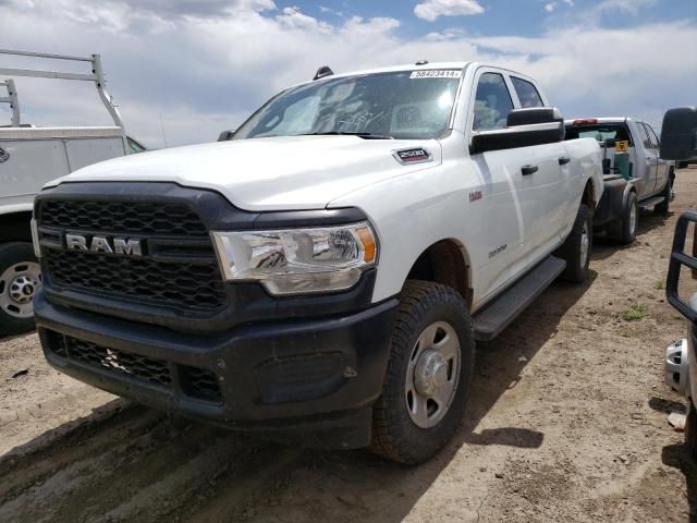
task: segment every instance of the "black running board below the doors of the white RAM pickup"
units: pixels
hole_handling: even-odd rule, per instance
[[[566,262],[549,256],[513,283],[473,317],[475,340],[489,341],[499,336],[566,267]]]

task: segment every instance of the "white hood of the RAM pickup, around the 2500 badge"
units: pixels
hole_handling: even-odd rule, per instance
[[[423,147],[432,161],[402,165],[393,153]],[[175,147],[115,158],[51,182],[175,182],[218,191],[245,210],[321,209],[366,185],[439,165],[435,139],[286,136]]]

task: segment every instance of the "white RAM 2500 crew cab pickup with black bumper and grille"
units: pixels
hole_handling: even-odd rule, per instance
[[[586,277],[600,147],[563,135],[504,69],[321,68],[231,141],[82,169],[35,202],[46,357],[185,416],[423,462],[475,340]]]

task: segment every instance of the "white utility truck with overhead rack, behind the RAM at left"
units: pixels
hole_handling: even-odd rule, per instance
[[[48,181],[76,169],[144,150],[140,144],[125,135],[119,111],[105,90],[98,54],[82,58],[0,49],[0,60],[3,57],[85,64],[89,68],[88,73],[10,69],[0,63],[0,75],[94,82],[114,126],[35,127],[22,124],[15,82],[0,83],[0,105],[9,105],[12,114],[11,124],[0,126],[0,336],[34,328],[33,301],[41,284],[29,229],[36,193]]]

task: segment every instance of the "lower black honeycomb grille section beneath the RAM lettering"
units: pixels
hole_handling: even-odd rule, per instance
[[[44,256],[51,284],[68,289],[204,312],[217,311],[227,301],[215,262],[163,263],[53,248]]]

